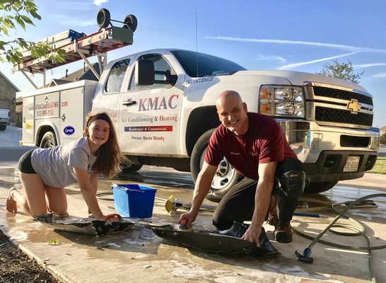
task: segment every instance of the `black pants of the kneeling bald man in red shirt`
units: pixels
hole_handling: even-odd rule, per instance
[[[280,179],[288,171],[305,171],[305,167],[298,159],[286,159],[278,163],[275,172],[276,179]],[[219,230],[226,230],[233,225],[233,221],[242,222],[252,219],[255,209],[256,187],[257,180],[250,178],[243,178],[231,187],[214,212],[214,226]],[[303,192],[304,187],[299,189]],[[281,190],[275,190],[275,187],[272,194],[279,197],[279,221],[291,221],[298,199],[286,197]]]

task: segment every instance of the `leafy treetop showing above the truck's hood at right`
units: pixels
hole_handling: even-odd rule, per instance
[[[360,83],[360,79],[364,72],[365,71],[354,74],[353,64],[351,64],[350,60],[347,60],[347,63],[339,63],[338,59],[335,59],[332,61],[332,64],[324,64],[322,71],[317,74],[343,79],[344,81],[351,81],[351,83]]]

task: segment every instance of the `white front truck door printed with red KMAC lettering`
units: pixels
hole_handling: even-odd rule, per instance
[[[119,110],[119,139],[122,150],[131,154],[180,154],[180,108],[182,88],[165,81],[165,71],[175,74],[160,54],[146,54],[156,71],[151,86],[136,86],[132,71],[128,90],[122,93]]]

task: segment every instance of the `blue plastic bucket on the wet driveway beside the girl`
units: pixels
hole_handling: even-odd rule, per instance
[[[156,189],[137,184],[112,184],[115,211],[125,217],[148,218],[153,214]]]

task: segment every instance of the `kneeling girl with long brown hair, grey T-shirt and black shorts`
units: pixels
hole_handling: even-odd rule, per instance
[[[18,163],[23,193],[11,188],[6,200],[8,212],[17,212],[18,205],[31,216],[47,210],[59,216],[67,214],[64,187],[78,183],[88,213],[104,219],[96,192],[99,175],[117,173],[122,158],[117,135],[105,112],[88,113],[85,137],[70,144],[27,151]]]

